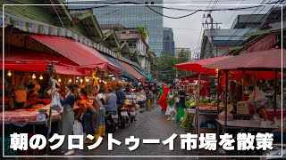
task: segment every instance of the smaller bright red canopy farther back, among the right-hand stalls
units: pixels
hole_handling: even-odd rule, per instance
[[[214,61],[228,59],[231,56],[223,56],[223,57],[214,57],[210,59],[203,60],[191,60],[188,62],[176,64],[175,68],[180,68],[183,70],[189,70],[198,73],[215,73],[215,68],[204,68],[203,65],[208,65],[214,63]]]

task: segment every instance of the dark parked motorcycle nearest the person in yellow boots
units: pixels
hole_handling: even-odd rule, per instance
[[[109,111],[105,114],[105,127],[106,132],[114,133],[116,131],[117,124],[119,122],[119,116],[116,109]]]

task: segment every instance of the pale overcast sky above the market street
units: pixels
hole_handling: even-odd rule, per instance
[[[71,1],[87,1],[87,0],[69,0]],[[95,1],[95,0],[88,0]],[[126,0],[128,2],[128,0]],[[248,7],[250,5],[246,4],[261,4],[261,3],[271,3],[276,2],[278,0],[164,0],[164,4],[183,4],[183,5],[172,5],[165,7],[172,8],[180,8],[180,9],[188,9],[188,10],[198,10],[198,9],[212,9],[212,8],[237,8],[237,7]],[[144,2],[144,1],[142,1]],[[197,5],[188,5],[187,4],[197,4]],[[206,5],[198,5],[198,4],[206,4]],[[214,6],[214,4],[217,4]],[[222,6],[219,4],[237,4]],[[208,6],[209,5],[209,6]],[[212,17],[214,18],[214,22],[222,23],[220,25],[221,28],[231,28],[231,24],[233,20],[239,14],[253,14],[259,13],[263,14],[268,12],[268,10],[272,6],[260,6],[259,8],[252,8],[248,11],[217,11],[212,12]],[[150,11],[152,12],[152,11]],[[177,11],[177,10],[169,10],[164,9],[164,15],[172,16],[172,17],[180,17],[186,14],[189,14],[193,11]],[[175,46],[177,47],[188,47],[191,50],[196,50],[199,47],[200,42],[200,33],[202,29],[202,20],[203,15],[207,12],[197,12],[189,17],[182,19],[169,19],[164,18],[164,27],[172,28],[174,34]],[[206,19],[205,19],[206,20]],[[204,20],[204,21],[205,21]],[[204,29],[202,29],[203,31]],[[196,51],[194,51],[196,52]]]

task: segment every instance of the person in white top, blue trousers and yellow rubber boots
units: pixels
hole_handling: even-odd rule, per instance
[[[98,137],[105,136],[105,89],[100,88],[96,97],[97,104],[99,105],[98,112]]]

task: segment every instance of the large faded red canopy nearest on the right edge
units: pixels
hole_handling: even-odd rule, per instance
[[[282,60],[286,61],[286,55],[282,54],[285,50],[270,49],[263,52],[249,52],[229,59],[217,60],[203,65],[204,68],[218,69],[243,69],[243,68],[286,68],[286,63],[282,65]]]

